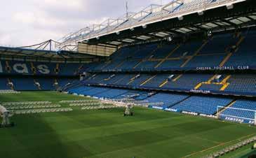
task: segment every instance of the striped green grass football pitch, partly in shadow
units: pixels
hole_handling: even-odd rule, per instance
[[[86,99],[58,92],[0,94],[1,102]],[[69,107],[67,103],[60,103]],[[202,157],[256,135],[246,124],[135,108],[14,115],[15,127],[0,129],[3,158]]]

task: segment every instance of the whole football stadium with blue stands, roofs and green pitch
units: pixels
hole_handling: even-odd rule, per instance
[[[1,157],[255,157],[256,1],[133,11],[0,46]]]

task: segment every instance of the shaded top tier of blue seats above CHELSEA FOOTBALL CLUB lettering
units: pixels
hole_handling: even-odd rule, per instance
[[[151,43],[128,46],[114,52],[109,57],[110,62],[89,64],[86,71],[197,70],[218,69],[219,66],[234,66],[234,69],[247,66],[256,69],[256,50],[253,45],[255,32],[242,35],[217,34],[209,39],[178,44]]]

